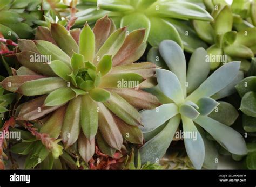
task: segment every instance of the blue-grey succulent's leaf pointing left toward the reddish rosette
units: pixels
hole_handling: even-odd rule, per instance
[[[174,103],[163,104],[156,109],[143,110],[140,112],[140,115],[142,116],[144,127],[140,127],[140,129],[143,133],[153,131],[178,113],[178,107]]]

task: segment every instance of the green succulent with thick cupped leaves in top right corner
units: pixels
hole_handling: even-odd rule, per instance
[[[242,1],[233,1],[231,7],[225,1],[220,4],[219,1],[212,4],[211,11],[214,18],[212,23],[200,20],[192,21],[198,36],[211,45],[207,49],[208,54],[213,56],[210,59],[211,69],[218,68],[220,63],[241,60],[241,69],[248,70],[250,63],[245,59],[250,59],[256,54],[256,28],[247,26],[238,31],[233,28],[234,23],[244,21],[240,15],[234,14],[234,12],[238,12],[238,9],[234,7],[237,7],[239,2]],[[232,12],[232,8],[234,12]],[[242,14],[243,11],[240,12]]]

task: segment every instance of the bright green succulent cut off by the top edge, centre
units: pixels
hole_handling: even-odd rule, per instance
[[[193,1],[192,1],[193,2]],[[129,26],[128,31],[147,28],[144,41],[158,46],[161,41],[176,41],[188,52],[198,47],[207,47],[187,20],[213,21],[210,14],[190,1],[163,0],[88,0],[77,8],[79,27],[87,21],[94,23],[98,17],[110,16],[118,27]]]

